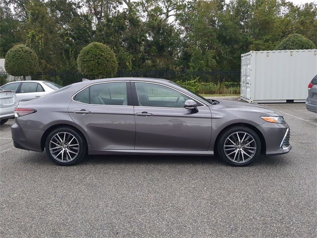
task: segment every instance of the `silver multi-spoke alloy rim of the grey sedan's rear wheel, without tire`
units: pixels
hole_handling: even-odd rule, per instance
[[[50,153],[55,160],[66,163],[74,160],[79,153],[79,143],[68,132],[58,132],[50,141]]]

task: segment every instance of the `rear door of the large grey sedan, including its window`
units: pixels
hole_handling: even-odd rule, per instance
[[[93,84],[77,93],[68,108],[71,118],[98,150],[134,149],[135,122],[130,82]]]

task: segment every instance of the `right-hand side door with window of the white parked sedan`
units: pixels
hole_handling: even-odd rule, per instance
[[[45,94],[41,84],[37,82],[23,82],[18,93],[16,94],[17,100],[29,98],[39,98]]]

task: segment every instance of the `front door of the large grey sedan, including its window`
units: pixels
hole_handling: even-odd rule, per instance
[[[197,113],[184,108],[191,99],[157,83],[132,84],[136,150],[208,150],[211,111],[201,103]]]

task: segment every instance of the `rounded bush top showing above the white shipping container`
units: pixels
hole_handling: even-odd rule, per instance
[[[315,49],[315,44],[300,34],[289,35],[284,38],[275,50],[310,50]]]

